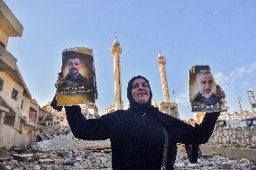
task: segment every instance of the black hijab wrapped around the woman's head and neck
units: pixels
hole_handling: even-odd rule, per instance
[[[148,101],[148,103],[136,103],[133,99],[133,95],[132,95],[132,90],[133,90],[133,82],[135,79],[138,78],[142,78],[145,80],[145,82],[149,85],[149,89],[150,89],[150,99]],[[151,92],[151,85],[149,80],[147,80],[147,78],[145,78],[144,76],[133,76],[133,78],[129,81],[128,83],[128,87],[127,87],[127,98],[129,100],[130,103],[130,110],[132,110],[133,112],[149,112],[152,109],[156,110],[156,108],[154,108],[151,105],[151,99],[152,99],[152,92]]]

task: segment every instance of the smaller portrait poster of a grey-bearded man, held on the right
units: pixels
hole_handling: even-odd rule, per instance
[[[189,70],[189,101],[192,112],[221,110],[221,99],[216,96],[215,78],[209,66],[194,66]]]

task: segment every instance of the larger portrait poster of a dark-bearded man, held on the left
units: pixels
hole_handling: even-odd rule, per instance
[[[92,49],[65,49],[61,73],[63,81],[57,86],[58,106],[95,103],[97,91]]]

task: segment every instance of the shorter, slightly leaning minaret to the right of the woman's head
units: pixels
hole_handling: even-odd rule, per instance
[[[166,61],[165,58],[163,57],[163,54],[159,53],[158,64],[160,66],[160,80],[162,85],[163,101],[169,103],[169,90],[165,73],[165,63]]]

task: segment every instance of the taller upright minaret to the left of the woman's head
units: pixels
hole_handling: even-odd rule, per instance
[[[120,43],[114,38],[111,49],[112,55],[114,57],[114,94],[115,103],[114,111],[123,109],[122,103],[122,91],[121,91],[121,66],[120,66],[120,56],[122,53],[122,48]]]

